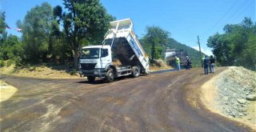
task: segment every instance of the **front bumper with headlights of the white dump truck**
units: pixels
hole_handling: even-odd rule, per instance
[[[106,70],[99,69],[99,70],[79,70],[79,74],[84,75],[86,77],[98,77],[98,78],[105,78]]]

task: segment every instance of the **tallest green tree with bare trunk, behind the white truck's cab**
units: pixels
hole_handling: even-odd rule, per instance
[[[101,42],[114,18],[106,13],[99,0],[63,0],[62,6],[54,7],[54,16],[63,23],[66,41],[73,52],[74,67],[78,68],[79,49],[82,45]]]

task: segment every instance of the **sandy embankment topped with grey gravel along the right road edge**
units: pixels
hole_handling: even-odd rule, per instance
[[[202,86],[202,102],[214,113],[256,130],[256,72],[229,67]]]

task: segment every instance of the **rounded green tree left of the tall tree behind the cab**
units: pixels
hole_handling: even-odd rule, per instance
[[[26,13],[22,27],[25,43],[25,59],[29,62],[45,62],[51,47],[51,25],[54,21],[53,9],[49,3],[35,6]]]

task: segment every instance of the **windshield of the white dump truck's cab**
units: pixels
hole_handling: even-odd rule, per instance
[[[82,49],[80,58],[99,58],[99,48]]]

